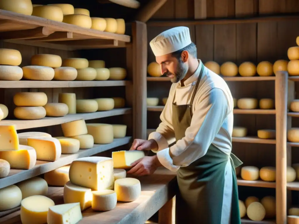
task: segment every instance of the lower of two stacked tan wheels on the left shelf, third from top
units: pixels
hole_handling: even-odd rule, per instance
[[[43,107],[16,107],[13,115],[20,120],[38,120],[46,116],[46,110]]]

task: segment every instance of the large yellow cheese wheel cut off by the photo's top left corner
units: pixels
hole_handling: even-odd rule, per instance
[[[0,1],[0,9],[31,16],[31,0]]]

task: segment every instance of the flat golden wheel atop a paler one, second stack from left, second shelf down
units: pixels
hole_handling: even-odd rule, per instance
[[[57,68],[60,67],[61,64],[61,57],[55,54],[36,54],[31,57],[31,65]]]

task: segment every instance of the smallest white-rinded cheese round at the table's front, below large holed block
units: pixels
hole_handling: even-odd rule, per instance
[[[117,197],[113,190],[92,191],[91,208],[95,211],[110,211],[116,207]]]

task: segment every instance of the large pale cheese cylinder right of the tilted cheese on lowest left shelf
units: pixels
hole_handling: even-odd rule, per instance
[[[92,135],[95,144],[113,142],[113,126],[109,124],[86,124],[88,134]]]

